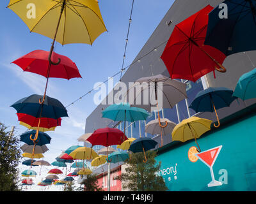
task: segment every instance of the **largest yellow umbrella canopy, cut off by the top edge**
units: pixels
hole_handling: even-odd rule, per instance
[[[33,1],[36,14],[28,18],[26,0],[11,0],[8,8],[14,11],[28,25],[31,32],[54,38],[56,25],[56,41],[65,45],[68,43],[86,43],[93,41],[106,31],[99,4],[95,0],[68,1],[45,0]],[[61,12],[61,15],[60,15]],[[65,13],[65,15],[62,13]]]

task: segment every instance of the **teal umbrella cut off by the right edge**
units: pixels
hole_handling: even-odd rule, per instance
[[[256,98],[256,68],[242,75],[236,85],[233,96],[243,100]]]

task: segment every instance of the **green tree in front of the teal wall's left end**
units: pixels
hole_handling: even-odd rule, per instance
[[[161,163],[156,164],[156,151],[146,152],[147,163],[143,163],[145,159],[143,152],[132,153],[131,159],[127,161],[125,173],[115,179],[122,181],[124,189],[131,191],[166,191],[163,177],[156,175],[159,171]]]

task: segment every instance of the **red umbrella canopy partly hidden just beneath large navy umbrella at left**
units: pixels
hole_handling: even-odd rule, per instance
[[[28,115],[26,113],[16,113],[18,116],[18,120],[20,122],[24,122],[29,124],[31,127],[38,126],[39,118],[33,117],[32,115]],[[50,119],[47,117],[42,117],[40,120],[40,128],[53,128],[56,126],[61,126],[61,118],[59,119]]]

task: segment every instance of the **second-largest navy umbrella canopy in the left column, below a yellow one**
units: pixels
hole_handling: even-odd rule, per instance
[[[36,135],[36,130],[31,130],[26,133],[23,133],[20,135],[20,141],[24,142],[28,145],[34,145],[34,142],[30,140],[30,136],[32,135],[33,138],[35,138]],[[47,135],[46,133],[39,132],[38,133],[38,138],[36,140],[36,145],[42,146],[45,144],[51,143],[51,137]]]

